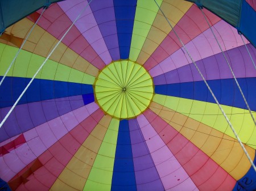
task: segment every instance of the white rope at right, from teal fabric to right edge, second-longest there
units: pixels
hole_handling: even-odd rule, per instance
[[[239,89],[239,91],[240,91],[240,93],[241,93],[241,95],[242,95],[242,97],[243,97],[243,100],[245,101],[246,107],[248,108],[248,110],[249,110],[249,112],[250,112],[250,115],[251,115],[251,118],[253,119],[254,125],[256,125],[256,121],[255,121],[255,118],[254,118],[254,116],[253,116],[253,113],[251,112],[251,109],[250,109],[250,107],[249,107],[249,104],[247,103],[247,100],[246,100],[246,98],[245,98],[245,95],[243,94],[243,91],[242,91],[242,89],[241,89],[241,87],[240,87],[240,84],[239,84],[238,81],[237,81],[236,75],[234,75],[234,71],[232,70],[232,67],[230,66],[230,63],[229,63],[229,61],[228,61],[228,58],[226,58],[226,55],[225,55],[225,53],[223,52],[223,50],[222,50],[222,48],[221,48],[221,45],[220,45],[220,43],[218,42],[215,33],[213,32],[212,27],[210,27],[209,21],[208,21],[207,17],[205,16],[202,7],[199,7],[199,9],[200,9],[201,12],[203,13],[204,18],[205,18],[205,20],[207,21],[208,26],[209,26],[210,30],[212,31],[214,38],[216,39],[216,41],[217,41],[217,43],[218,43],[218,46],[220,47],[221,52],[222,52],[222,54],[223,54],[223,56],[224,56],[224,58],[225,58],[225,60],[226,60],[226,63],[228,63],[229,69],[230,69],[230,71],[231,71],[231,73],[232,73],[232,75],[233,75],[234,80],[236,81],[237,87],[238,87],[238,89]]]

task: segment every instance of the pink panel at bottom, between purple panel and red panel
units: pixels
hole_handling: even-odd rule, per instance
[[[156,133],[154,128],[152,128],[146,117],[141,114],[137,117],[137,121],[143,137],[146,140],[152,159],[154,160],[164,189],[175,188],[175,186],[179,184],[188,184],[192,186],[188,187],[188,185],[186,185],[187,188],[194,190],[196,185],[193,184],[188,174],[181,167],[180,163]]]

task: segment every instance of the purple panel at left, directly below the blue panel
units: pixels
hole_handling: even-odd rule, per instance
[[[16,105],[0,129],[0,142],[82,106],[84,102],[81,95]],[[0,109],[1,120],[9,110],[10,107]]]

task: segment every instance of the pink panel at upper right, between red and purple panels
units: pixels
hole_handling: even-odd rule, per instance
[[[243,45],[242,39],[240,35],[238,35],[236,29],[230,26],[228,23],[224,22],[224,20],[214,24],[212,29],[223,51]],[[248,42],[246,41],[246,43]],[[194,61],[199,61],[203,58],[221,53],[217,41],[214,39],[210,29],[207,29],[201,33],[185,46]],[[188,54],[185,53],[185,50],[181,48],[173,53],[170,57],[166,58],[166,60],[159,63],[159,66],[162,70],[159,70],[159,67],[154,67],[149,72],[152,77],[155,77],[159,74],[167,73],[168,71],[188,65],[189,63],[192,63],[191,59],[189,58]],[[200,70],[203,70],[203,68],[204,66],[201,66]]]

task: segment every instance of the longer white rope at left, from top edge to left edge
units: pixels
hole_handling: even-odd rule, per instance
[[[22,94],[20,94],[20,96],[18,97],[18,99],[16,100],[16,102],[14,103],[13,107],[11,107],[10,111],[6,114],[5,118],[3,118],[3,121],[0,124],[0,128],[3,126],[3,124],[5,123],[5,121],[7,120],[7,118],[10,116],[11,112],[14,110],[15,106],[18,104],[19,100],[21,99],[21,97],[24,95],[24,93],[27,91],[27,88],[30,87],[30,84],[33,82],[33,80],[35,79],[36,75],[38,75],[39,71],[42,69],[42,67],[44,66],[44,64],[47,62],[47,60],[49,59],[49,57],[52,55],[52,53],[54,52],[54,50],[57,48],[57,46],[61,43],[61,41],[64,39],[64,37],[67,35],[67,33],[70,31],[70,29],[73,27],[73,25],[76,23],[76,21],[80,18],[80,16],[82,15],[82,13],[87,9],[87,7],[90,5],[90,3],[93,0],[90,0],[90,2],[88,3],[88,5],[86,5],[84,7],[84,9],[82,9],[82,11],[80,12],[80,14],[77,16],[77,18],[74,20],[74,22],[71,24],[71,26],[68,28],[68,30],[64,33],[63,37],[61,37],[60,41],[54,46],[54,48],[52,49],[52,51],[49,53],[49,55],[47,56],[46,60],[44,60],[44,62],[42,63],[42,65],[39,67],[38,71],[36,71],[35,75],[32,77],[32,79],[30,80],[30,82],[27,84],[26,88],[23,90]]]

